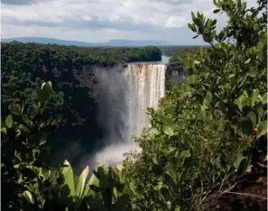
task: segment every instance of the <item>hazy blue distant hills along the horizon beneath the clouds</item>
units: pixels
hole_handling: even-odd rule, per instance
[[[107,42],[86,42],[86,41],[64,41],[45,37],[17,37],[1,39],[3,42],[20,41],[20,42],[36,42],[41,44],[58,44],[58,45],[75,45],[81,47],[99,47],[99,46],[165,46],[169,45],[165,41],[132,41],[132,40],[110,40]]]

